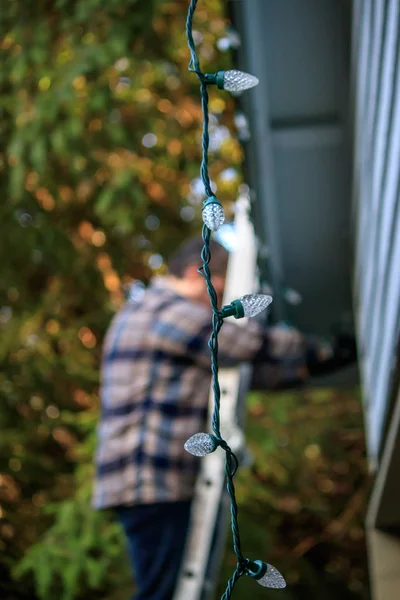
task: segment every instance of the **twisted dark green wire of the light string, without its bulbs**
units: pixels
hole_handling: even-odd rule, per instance
[[[186,20],[186,35],[188,45],[191,54],[191,60],[189,62],[189,71],[196,73],[200,81],[200,93],[201,93],[201,104],[203,109],[203,135],[202,135],[202,161],[200,167],[200,176],[204,184],[206,196],[210,197],[213,195],[210,183],[210,177],[208,174],[208,149],[209,149],[209,111],[208,111],[208,91],[207,91],[207,76],[202,73],[200,69],[200,62],[196,53],[196,48],[192,34],[192,24],[194,12],[196,10],[198,0],[191,0],[187,20]],[[233,483],[233,476],[238,468],[238,459],[232,452],[228,443],[222,438],[220,431],[220,403],[221,403],[221,389],[218,380],[218,333],[223,325],[222,313],[218,308],[218,299],[215,289],[211,282],[211,272],[209,269],[209,263],[211,259],[210,251],[210,238],[211,230],[204,225],[202,231],[202,237],[204,241],[204,247],[201,253],[203,261],[202,267],[199,269],[199,273],[204,277],[208,295],[210,297],[210,304],[212,308],[212,326],[213,330],[211,333],[208,346],[211,351],[211,371],[212,371],[212,387],[214,392],[214,410],[212,415],[212,430],[216,437],[218,446],[220,446],[226,453],[226,486],[230,497],[231,505],[231,527],[233,536],[233,549],[237,558],[237,566],[227,583],[226,590],[221,597],[221,600],[228,600],[233,592],[233,588],[238,579],[247,572],[248,560],[243,556],[240,543],[239,523],[238,523],[238,505],[236,502],[235,486]]]

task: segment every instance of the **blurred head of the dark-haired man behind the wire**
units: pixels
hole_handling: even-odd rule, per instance
[[[201,251],[203,245],[204,242],[200,237],[184,242],[171,257],[168,268],[179,293],[194,302],[208,304],[209,300],[205,281],[197,272],[198,268],[202,265]],[[221,301],[225,287],[228,252],[221,244],[213,240],[210,242],[210,250],[212,283]]]

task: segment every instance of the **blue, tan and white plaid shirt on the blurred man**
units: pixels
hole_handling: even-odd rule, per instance
[[[192,497],[200,461],[183,445],[206,426],[210,333],[210,310],[161,283],[114,317],[104,345],[94,507]],[[225,322],[221,366],[251,360],[262,341],[257,323]]]

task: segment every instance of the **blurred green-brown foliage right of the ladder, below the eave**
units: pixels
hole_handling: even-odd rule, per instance
[[[358,392],[251,394],[248,405],[254,464],[236,486],[243,549],[288,581],[283,592],[253,585],[252,600],[367,599],[369,480]],[[223,578],[234,564],[229,545]],[[240,582],[237,598],[248,593],[249,582]]]

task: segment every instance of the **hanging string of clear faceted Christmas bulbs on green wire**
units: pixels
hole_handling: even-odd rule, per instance
[[[233,536],[233,549],[237,558],[237,566],[227,583],[226,590],[221,597],[221,600],[228,600],[233,592],[236,582],[243,575],[248,575],[254,578],[260,585],[267,588],[281,589],[286,587],[286,582],[279,571],[272,565],[260,560],[250,560],[245,558],[241,550],[241,541],[238,524],[238,506],[236,502],[235,486],[233,476],[238,468],[238,459],[232,449],[223,439],[220,431],[220,400],[221,390],[218,380],[218,333],[223,326],[224,319],[230,316],[240,319],[242,317],[254,317],[261,311],[267,308],[272,302],[271,296],[265,294],[245,295],[234,300],[228,306],[223,306],[220,310],[217,302],[217,294],[211,282],[211,272],[209,263],[211,259],[210,239],[211,233],[217,231],[224,223],[225,214],[219,200],[214,196],[211,189],[210,177],[208,174],[208,149],[209,149],[209,112],[208,112],[208,86],[216,85],[219,89],[230,92],[240,92],[247,90],[258,84],[257,77],[242,71],[230,70],[219,71],[214,74],[203,73],[200,68],[200,62],[196,53],[195,43],[192,34],[193,17],[196,10],[198,0],[191,0],[187,20],[186,20],[186,35],[190,49],[191,59],[189,62],[189,71],[195,73],[200,82],[200,94],[203,110],[203,135],[202,135],[202,161],[200,167],[200,175],[204,184],[206,200],[203,203],[203,241],[204,246],[201,253],[203,261],[199,273],[204,277],[210,303],[212,308],[212,326],[208,346],[211,351],[211,371],[212,371],[212,387],[214,393],[214,410],[212,415],[212,431],[213,433],[196,433],[185,443],[185,449],[194,456],[206,456],[211,452],[221,448],[225,451],[225,475],[226,486],[231,502],[231,528]]]

